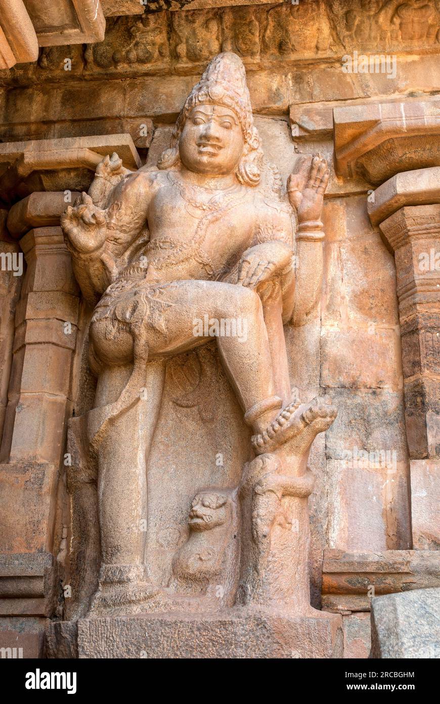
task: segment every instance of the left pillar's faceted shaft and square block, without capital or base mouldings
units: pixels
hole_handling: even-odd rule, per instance
[[[1,550],[50,552],[78,289],[59,227],[31,230],[21,246],[27,272],[15,313],[1,444],[0,489],[7,494]]]

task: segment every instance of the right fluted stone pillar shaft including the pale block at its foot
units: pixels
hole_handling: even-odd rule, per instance
[[[405,206],[380,229],[396,258],[413,543],[439,548],[440,204]]]

